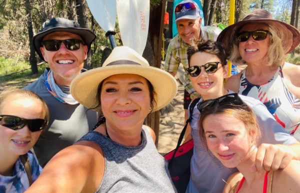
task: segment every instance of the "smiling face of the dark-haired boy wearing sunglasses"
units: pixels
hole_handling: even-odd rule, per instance
[[[207,52],[195,52],[189,61],[189,66],[204,65],[207,62],[219,61],[220,59],[215,55]],[[203,67],[198,76],[190,76],[193,88],[202,96],[204,100],[216,98],[227,93],[223,86],[224,77],[227,75],[227,65],[222,67],[218,64],[218,68],[214,73],[207,73]]]

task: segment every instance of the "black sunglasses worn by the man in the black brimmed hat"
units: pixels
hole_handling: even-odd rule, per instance
[[[83,44],[83,41],[80,39],[47,39],[41,41],[41,45],[44,45],[48,51],[57,51],[60,48],[61,42],[65,45],[68,50],[76,50],[80,48],[80,43]]]

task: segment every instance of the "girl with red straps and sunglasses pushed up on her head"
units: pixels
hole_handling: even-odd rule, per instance
[[[236,94],[237,96],[237,94]],[[226,180],[223,192],[297,192],[300,161],[291,160],[283,169],[253,172],[260,137],[255,113],[238,96],[231,102],[218,100],[198,104],[199,132],[204,147],[224,166],[236,167]]]

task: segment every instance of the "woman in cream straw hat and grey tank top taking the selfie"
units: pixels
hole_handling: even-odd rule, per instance
[[[169,73],[137,52],[115,47],[102,67],[81,73],[71,94],[102,114],[93,131],[58,152],[28,192],[175,192],[147,114],[177,92]]]

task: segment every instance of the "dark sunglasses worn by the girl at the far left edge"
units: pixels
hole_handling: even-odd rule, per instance
[[[19,130],[26,124],[31,132],[35,132],[45,128],[47,120],[42,118],[26,119],[13,115],[0,115],[0,125],[11,128],[12,130]]]

